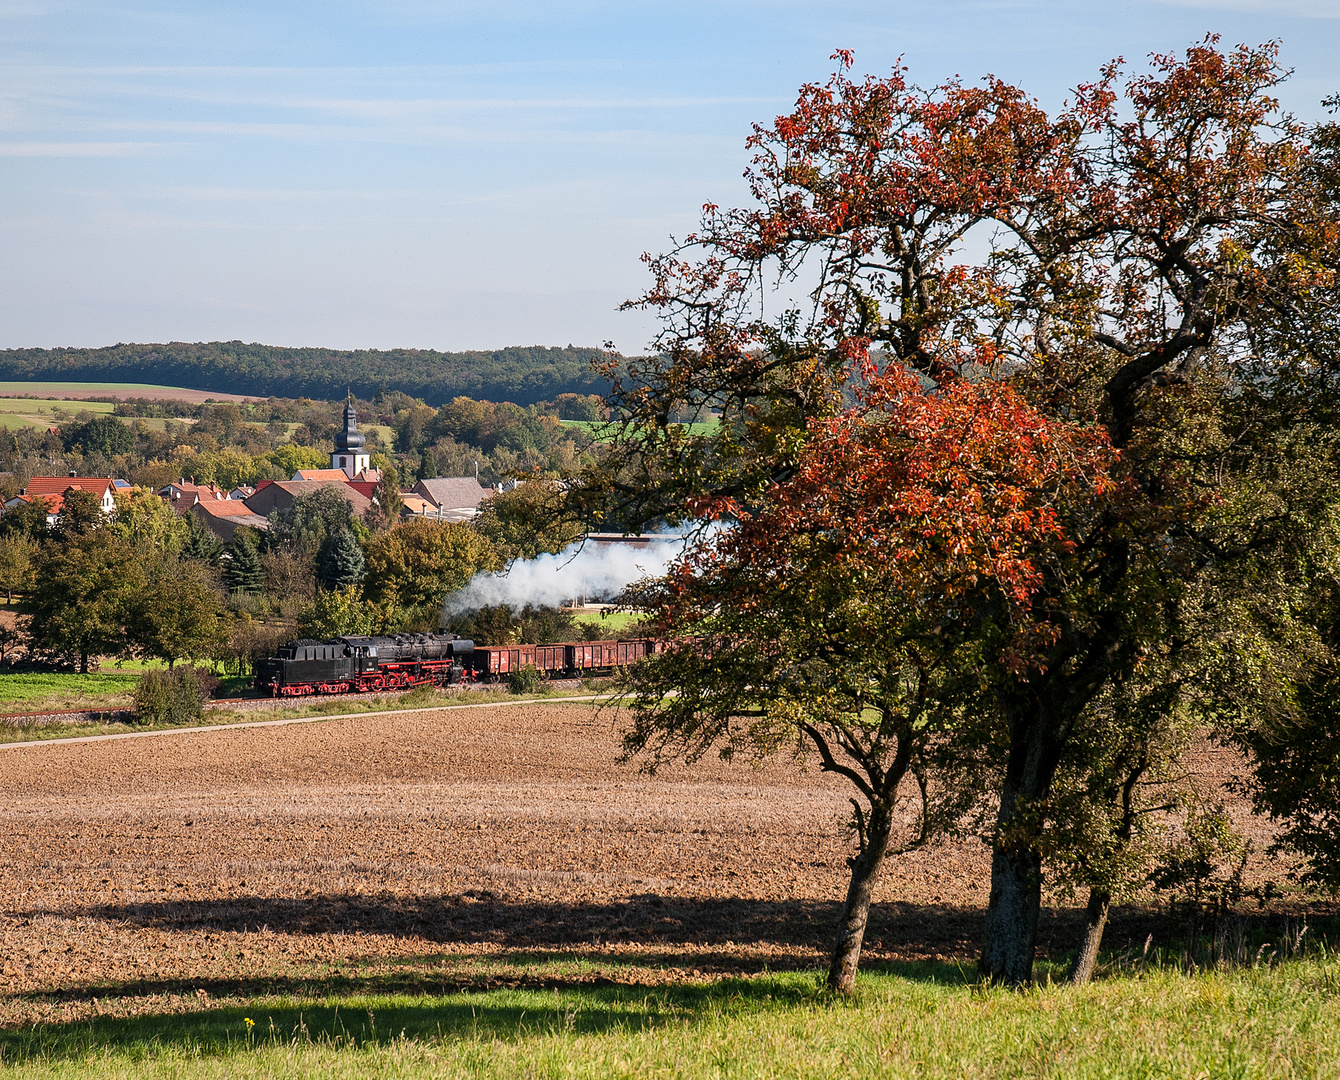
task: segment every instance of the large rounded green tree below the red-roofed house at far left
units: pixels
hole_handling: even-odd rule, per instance
[[[126,657],[127,624],[145,587],[139,555],[111,529],[95,529],[51,544],[38,557],[34,588],[19,602],[31,647],[78,659]]]

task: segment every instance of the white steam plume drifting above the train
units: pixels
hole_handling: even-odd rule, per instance
[[[683,536],[649,537],[650,544],[600,544],[588,540],[557,555],[517,560],[503,573],[476,573],[442,604],[442,615],[494,604],[557,607],[574,599],[612,600],[624,586],[657,578],[683,551]]]

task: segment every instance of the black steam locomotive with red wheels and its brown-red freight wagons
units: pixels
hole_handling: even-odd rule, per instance
[[[650,638],[559,645],[477,646],[454,634],[347,636],[328,642],[302,638],[256,661],[256,689],[271,697],[350,694],[492,682],[523,667],[549,678],[626,667],[667,642]]]

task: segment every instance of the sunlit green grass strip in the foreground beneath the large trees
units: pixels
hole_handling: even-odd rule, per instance
[[[444,958],[444,978],[450,961]],[[851,1001],[819,973],[661,986],[342,994],[314,985],[122,1000],[0,1032],[32,1077],[1321,1077],[1340,1073],[1340,962],[1175,969],[1026,993],[958,967],[863,974]],[[610,971],[618,982],[618,971]],[[596,980],[599,982],[599,980]],[[50,1010],[59,1013],[54,1000]]]

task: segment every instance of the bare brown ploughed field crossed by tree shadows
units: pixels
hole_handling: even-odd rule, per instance
[[[843,784],[792,761],[646,776],[616,725],[545,703],[0,748],[0,1025],[524,984],[555,958],[578,982],[820,963]],[[970,963],[988,871],[977,841],[892,859],[867,959]],[[1044,951],[1076,930],[1051,911]]]

